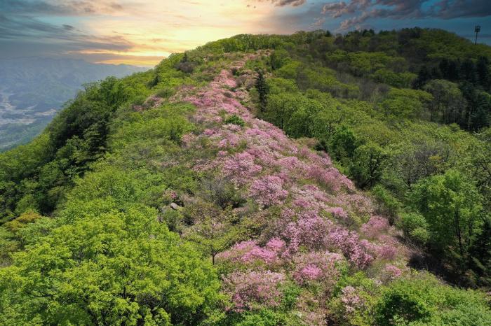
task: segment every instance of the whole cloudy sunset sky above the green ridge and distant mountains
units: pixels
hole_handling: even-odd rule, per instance
[[[0,60],[71,57],[154,66],[236,34],[447,29],[491,44],[491,0],[0,0]]]

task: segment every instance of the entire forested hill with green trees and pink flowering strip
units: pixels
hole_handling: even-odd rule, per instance
[[[239,35],[0,154],[1,325],[491,325],[491,48]]]

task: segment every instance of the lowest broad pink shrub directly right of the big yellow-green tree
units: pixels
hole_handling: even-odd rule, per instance
[[[285,275],[272,271],[235,272],[224,279],[224,293],[231,297],[232,310],[241,312],[274,307],[281,302],[280,287]]]

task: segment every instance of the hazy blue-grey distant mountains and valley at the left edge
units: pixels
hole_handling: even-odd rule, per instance
[[[0,60],[0,150],[30,141],[84,83],[147,70],[81,59],[23,57]]]

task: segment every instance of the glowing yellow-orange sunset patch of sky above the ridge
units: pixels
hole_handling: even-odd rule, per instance
[[[98,62],[152,66],[172,52],[183,52],[208,41],[242,33],[272,33],[271,3],[250,1],[137,1],[121,4],[117,13],[86,17],[89,34],[121,37],[129,48],[81,50],[84,55],[117,57]]]

